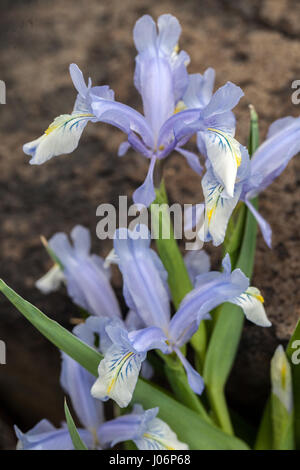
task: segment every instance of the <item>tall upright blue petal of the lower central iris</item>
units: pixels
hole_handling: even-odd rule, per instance
[[[145,325],[158,326],[167,331],[170,319],[169,293],[162,279],[163,267],[156,259],[157,254],[151,250],[150,241],[148,228],[139,225],[135,231],[125,228],[117,230],[114,248],[124,285],[136,312]]]

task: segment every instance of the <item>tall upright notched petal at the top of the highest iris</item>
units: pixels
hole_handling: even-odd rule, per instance
[[[178,55],[175,49],[180,33],[179,22],[172,15],[159,17],[158,33],[148,15],[136,22],[133,31],[138,51],[134,81],[156,143],[161,126],[174,113],[176,101],[187,86],[188,57]]]

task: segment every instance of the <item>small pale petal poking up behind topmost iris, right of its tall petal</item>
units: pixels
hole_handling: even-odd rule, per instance
[[[189,75],[189,84],[183,102],[188,108],[203,109],[211,100],[215,82],[215,71],[212,68],[205,70],[204,74]]]

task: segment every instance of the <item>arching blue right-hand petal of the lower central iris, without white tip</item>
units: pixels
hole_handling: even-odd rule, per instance
[[[195,288],[185,296],[172,317],[169,338],[181,347],[197,331],[199,323],[209,318],[208,312],[239,296],[249,287],[248,278],[235,269],[229,272],[208,272],[197,277]]]

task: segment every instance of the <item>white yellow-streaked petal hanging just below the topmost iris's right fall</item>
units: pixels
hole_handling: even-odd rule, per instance
[[[202,178],[202,188],[205,198],[204,231],[199,232],[202,241],[212,240],[215,246],[223,243],[228,220],[238,203],[241,185],[235,188],[232,198],[224,198],[224,187],[217,182],[211,171]]]

